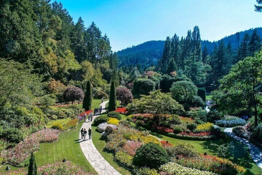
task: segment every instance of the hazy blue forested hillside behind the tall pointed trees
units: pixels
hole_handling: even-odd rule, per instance
[[[255,28],[258,36],[262,37],[262,28]],[[222,40],[224,44],[231,44],[231,49],[233,51],[237,51],[239,48],[241,41],[244,36],[248,34],[252,35],[254,29],[245,30],[242,32],[238,32],[232,34],[230,36],[224,37],[219,41],[208,41],[201,40],[202,51],[207,48],[208,54],[211,55],[218,43]],[[119,56],[120,66],[123,65],[137,65],[140,64],[142,67],[148,67],[151,64],[156,65],[157,61],[162,57],[164,50],[164,41],[148,41],[137,46],[128,47],[126,49],[120,50],[117,52]]]

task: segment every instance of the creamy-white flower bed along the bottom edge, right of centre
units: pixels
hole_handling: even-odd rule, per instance
[[[201,171],[195,168],[184,167],[175,162],[168,162],[167,164],[162,165],[159,168],[159,170],[162,171],[160,173],[161,175],[168,175],[168,174],[216,175],[216,173]]]

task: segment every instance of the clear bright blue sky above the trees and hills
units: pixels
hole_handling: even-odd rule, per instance
[[[52,0],[51,2],[53,2]],[[146,41],[186,36],[194,26],[202,40],[217,41],[250,28],[262,27],[256,0],[57,0],[76,23],[92,21],[110,39],[113,51]]]

